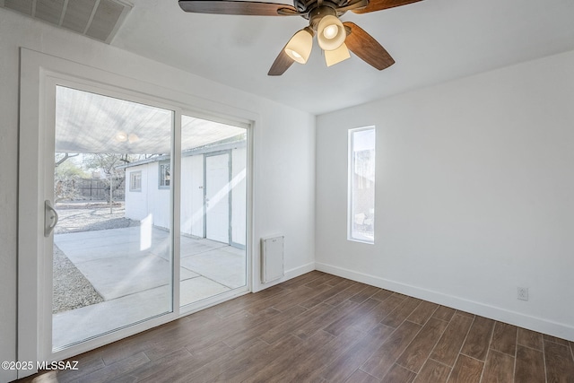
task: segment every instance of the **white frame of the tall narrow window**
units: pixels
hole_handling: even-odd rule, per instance
[[[372,161],[374,161],[373,164],[373,182],[372,182],[372,216],[370,219],[372,220],[372,222],[370,223],[371,225],[371,230],[372,230],[372,239],[369,239],[366,236],[361,236],[361,237],[357,237],[355,230],[354,230],[354,221],[355,221],[355,216],[357,215],[355,212],[355,209],[353,207],[353,198],[355,196],[355,192],[354,192],[354,168],[355,168],[355,156],[353,155],[353,153],[355,152],[354,149],[354,134],[355,133],[360,133],[360,132],[364,132],[364,131],[368,131],[371,130],[373,132],[373,135],[375,135],[375,143],[373,144],[373,159]],[[348,137],[347,137],[347,164],[348,164],[348,170],[347,170],[347,240],[353,241],[353,242],[361,242],[361,243],[366,243],[366,244],[370,244],[370,245],[374,245],[375,244],[375,199],[376,199],[376,183],[377,183],[377,179],[375,177],[376,175],[376,153],[377,153],[377,144],[376,144],[376,137],[377,137],[377,129],[376,126],[362,126],[362,127],[355,127],[355,128],[350,128],[348,130]]]

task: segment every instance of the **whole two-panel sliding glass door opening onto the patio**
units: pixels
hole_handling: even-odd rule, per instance
[[[39,360],[248,292],[247,124],[49,85]]]

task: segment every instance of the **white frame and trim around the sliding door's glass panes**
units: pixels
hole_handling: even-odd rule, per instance
[[[171,166],[176,181],[171,187],[171,255],[172,255],[172,310],[170,313],[126,326],[107,335],[101,335],[82,344],[57,353],[51,350],[51,292],[53,235],[48,239],[44,231],[44,200],[50,198],[45,191],[47,169],[53,164],[45,163],[48,155],[47,142],[54,140],[56,86],[62,85],[92,91],[105,96],[140,102],[170,109],[174,112],[171,126]],[[163,88],[157,84],[111,74],[88,65],[82,65],[59,57],[48,56],[21,48],[20,92],[20,154],[19,154],[19,201],[18,201],[18,350],[19,361],[59,361],[115,342],[129,335],[140,333],[154,326],[181,318],[252,289],[251,265],[253,264],[253,169],[252,129],[257,116],[236,109],[237,115],[228,115],[232,107],[213,105],[213,102],[197,99],[186,93]],[[197,101],[197,102],[196,102]],[[195,106],[194,106],[195,105]],[[213,109],[204,106],[216,107]],[[247,216],[247,285],[211,299],[201,300],[180,309],[179,306],[179,226],[180,226],[180,159],[181,116],[191,111],[194,116],[209,116],[212,120],[224,120],[237,126],[248,126],[248,216]],[[225,110],[225,112],[222,112]],[[187,114],[186,113],[186,114]],[[52,144],[53,147],[53,144]],[[53,176],[52,176],[53,177]],[[49,257],[49,259],[48,259]],[[47,265],[48,264],[48,265]],[[49,275],[47,270],[50,271]],[[50,294],[47,297],[47,294]],[[48,304],[47,301],[50,303]],[[34,366],[36,367],[36,366]],[[19,370],[18,378],[36,372]]]

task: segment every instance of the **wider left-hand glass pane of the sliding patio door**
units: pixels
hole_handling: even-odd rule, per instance
[[[57,86],[53,352],[172,311],[174,118]]]

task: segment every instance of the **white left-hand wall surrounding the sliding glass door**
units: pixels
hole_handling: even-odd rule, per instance
[[[289,244],[285,247],[288,277],[313,268],[313,116],[0,9],[0,360],[16,357],[20,47],[135,78],[149,86],[162,87],[164,92],[185,93],[199,109],[255,120],[253,270],[259,268],[258,239],[269,231],[283,233]],[[26,100],[22,109],[37,102],[38,99]],[[254,278],[253,289],[262,287]],[[13,372],[0,370],[0,381],[14,378]]]

